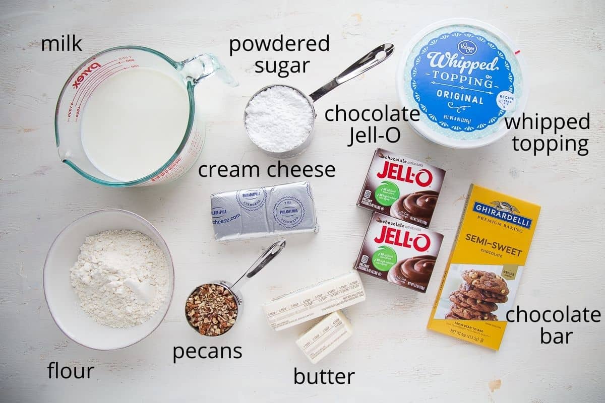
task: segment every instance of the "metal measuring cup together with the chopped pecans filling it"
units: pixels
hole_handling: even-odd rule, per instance
[[[240,288],[286,247],[286,240],[273,243],[234,283],[215,280],[202,284],[189,294],[185,317],[203,336],[220,336],[233,328],[240,317],[243,299]]]

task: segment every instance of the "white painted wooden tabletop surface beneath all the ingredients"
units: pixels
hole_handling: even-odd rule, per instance
[[[540,344],[543,324],[510,324],[499,352],[425,329],[470,182],[543,206],[517,295],[522,308],[605,308],[601,2],[7,0],[0,10],[0,401],[605,401],[601,323],[551,325],[574,331],[564,346]],[[448,172],[431,223],[445,234],[433,282],[422,295],[364,276],[367,301],[347,309],[355,335],[312,366],[294,343],[307,325],[273,332],[260,305],[345,271],[361,245],[369,214],[355,201],[374,145],[346,147],[350,125],[329,123],[323,112],[336,103],[397,108],[395,71],[404,45],[425,25],[451,16],[489,22],[517,42],[531,76],[526,111],[564,117],[589,111],[590,131],[565,135],[589,137],[590,153],[514,152],[512,136],[479,150],[456,151],[428,144],[400,123],[402,141],[379,146]],[[275,60],[311,60],[307,74],[288,79],[253,73],[253,62],[267,59],[264,54],[229,57],[229,39],[281,33],[293,38],[330,34],[330,51],[271,54]],[[81,37],[83,51],[41,51],[42,38],[61,34]],[[244,290],[247,311],[233,334],[211,343],[200,338],[183,319],[186,294],[204,280],[237,278],[270,243],[215,242],[209,195],[290,180],[200,178],[196,166],[179,181],[158,187],[108,189],[88,182],[60,163],[56,153],[53,114],[65,79],[85,58],[115,45],[144,45],[175,59],[212,51],[241,85],[229,89],[208,80],[198,88],[207,134],[199,163],[266,167],[272,160],[243,131],[249,96],[275,82],[313,91],[384,42],[396,45],[392,59],[318,102],[316,138],[292,161],[336,166],[336,178],[310,179],[321,231],[290,237],[274,266]],[[154,334],[127,349],[97,352],[68,340],[54,324],[42,293],[42,265],[65,225],[106,207],[134,211],[157,225],[171,248],[177,280],[171,309]],[[241,346],[243,358],[172,363],[173,346],[202,345]],[[95,369],[91,379],[48,379],[50,361]],[[355,375],[350,385],[294,385],[294,367]],[[500,389],[491,393],[489,382],[499,379]]]

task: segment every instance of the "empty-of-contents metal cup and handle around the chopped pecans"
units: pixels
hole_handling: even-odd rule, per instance
[[[231,330],[235,327],[235,324],[237,324],[237,319],[240,318],[240,316],[241,316],[243,303],[244,303],[244,300],[243,300],[241,292],[240,292],[241,287],[249,279],[252,279],[252,277],[255,276],[255,274],[257,274],[259,271],[261,271],[261,269],[264,266],[266,266],[267,263],[269,263],[271,260],[273,260],[273,258],[275,256],[277,256],[283,250],[284,247],[286,247],[285,239],[280,239],[280,240],[274,242],[269,248],[267,248],[266,251],[263,252],[263,254],[261,254],[260,257],[258,257],[258,259],[254,263],[252,263],[250,268],[247,269],[244,272],[244,274],[242,274],[241,277],[239,279],[237,279],[237,281],[233,284],[226,282],[224,280],[214,280],[214,281],[204,283],[200,286],[195,287],[195,289],[193,291],[191,291],[191,293],[189,293],[189,297],[187,298],[188,300],[190,297],[192,297],[192,295],[194,294],[195,291],[197,291],[198,288],[203,287],[204,285],[217,285],[217,286],[223,287],[224,289],[226,289],[229,292],[230,295],[232,295],[232,297],[235,301],[235,305],[237,306],[237,309],[235,312],[236,313],[235,323],[232,324],[231,327],[226,329],[224,332],[221,332],[220,334],[217,334],[217,335],[212,335],[212,337],[224,335],[227,332],[229,332],[229,330]],[[187,320],[187,323],[189,323],[189,326],[191,326],[192,329],[194,329],[196,333],[203,335],[203,336],[209,336],[206,334],[201,334],[200,329],[191,323],[191,321],[189,320],[187,304],[185,305],[185,318]]]

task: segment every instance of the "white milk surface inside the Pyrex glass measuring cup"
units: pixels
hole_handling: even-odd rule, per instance
[[[80,137],[93,165],[117,181],[134,181],[163,166],[187,129],[189,96],[182,83],[151,68],[129,68],[100,83],[83,109]]]

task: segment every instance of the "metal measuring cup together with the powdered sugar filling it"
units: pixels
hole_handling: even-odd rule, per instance
[[[290,158],[302,153],[313,137],[316,117],[313,103],[342,83],[379,65],[393,50],[391,44],[380,45],[309,96],[289,85],[261,88],[252,95],[244,111],[248,137],[275,158]]]

